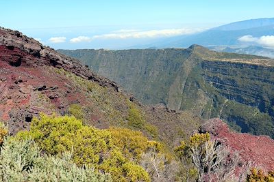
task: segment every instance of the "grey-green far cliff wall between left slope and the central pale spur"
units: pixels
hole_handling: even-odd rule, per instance
[[[119,82],[146,104],[168,104],[169,88],[177,76],[174,73],[182,72],[182,63],[188,58],[189,51],[64,50],[63,53],[85,60],[91,70]]]

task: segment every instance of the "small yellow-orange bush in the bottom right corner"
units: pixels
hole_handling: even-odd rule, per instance
[[[247,182],[274,182],[274,171],[265,173],[263,170],[252,168],[251,174],[247,175]]]

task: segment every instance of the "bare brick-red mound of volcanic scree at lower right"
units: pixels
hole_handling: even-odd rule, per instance
[[[232,132],[220,119],[210,119],[203,125],[202,132],[210,132],[232,151],[239,151],[243,160],[250,160],[258,168],[274,170],[274,140],[269,136]]]

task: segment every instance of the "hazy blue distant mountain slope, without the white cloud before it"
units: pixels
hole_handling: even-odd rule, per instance
[[[264,50],[264,54],[262,55],[274,55],[274,49],[264,47],[265,45],[260,45],[256,42],[241,42],[239,38],[245,35],[251,35],[257,38],[265,35],[274,35],[274,18],[259,18],[232,22],[193,35],[169,37],[147,46],[156,48],[187,48],[192,44],[199,44],[209,48],[218,46],[260,46],[267,49]],[[142,48],[143,47],[145,46],[142,46]],[[214,48],[214,50],[218,49],[219,48]],[[222,51],[221,49],[219,50]],[[235,52],[237,52],[237,50],[235,50]],[[243,51],[242,53],[260,55],[260,52],[256,51]]]

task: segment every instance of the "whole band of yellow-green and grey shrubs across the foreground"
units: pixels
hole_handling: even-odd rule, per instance
[[[7,134],[2,126],[1,181],[234,181],[238,166],[247,181],[273,181],[273,172],[247,172],[237,153],[208,133],[182,141],[177,157],[141,132],[99,130],[68,116],[41,114],[28,132]]]

